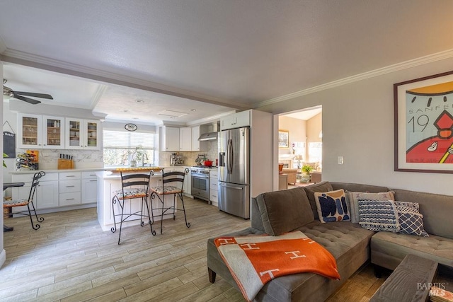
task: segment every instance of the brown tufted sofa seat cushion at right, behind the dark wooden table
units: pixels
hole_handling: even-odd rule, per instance
[[[453,239],[450,238],[378,232],[371,239],[371,248],[372,262],[388,269],[395,269],[408,254],[453,267]]]

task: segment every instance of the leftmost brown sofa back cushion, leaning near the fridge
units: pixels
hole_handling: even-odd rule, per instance
[[[271,236],[294,231],[314,221],[309,199],[302,187],[259,194],[253,202],[258,206],[264,231]],[[254,214],[252,226],[260,229]]]

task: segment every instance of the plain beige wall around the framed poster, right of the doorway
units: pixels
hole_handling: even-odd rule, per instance
[[[280,114],[322,105],[323,180],[453,194],[453,174],[394,171],[394,83],[450,70],[453,59],[444,59],[257,109]]]

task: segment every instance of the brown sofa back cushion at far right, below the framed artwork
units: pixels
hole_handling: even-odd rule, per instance
[[[418,202],[423,226],[430,234],[453,239],[453,196],[392,189],[398,202]]]

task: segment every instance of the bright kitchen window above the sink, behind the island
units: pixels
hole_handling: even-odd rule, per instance
[[[104,130],[104,165],[158,165],[156,141],[154,133]]]

